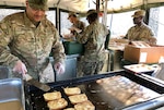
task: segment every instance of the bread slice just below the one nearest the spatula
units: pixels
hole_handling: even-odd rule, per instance
[[[49,110],[60,110],[68,106],[68,101],[65,98],[59,98],[47,102]]]

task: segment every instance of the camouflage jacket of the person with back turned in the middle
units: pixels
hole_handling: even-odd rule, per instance
[[[81,35],[77,36],[77,40],[84,44],[84,60],[87,62],[103,61],[105,59],[104,44],[108,34],[105,25],[98,21],[90,24]]]

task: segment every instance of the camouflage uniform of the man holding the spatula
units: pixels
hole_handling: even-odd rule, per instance
[[[14,13],[0,22],[0,64],[13,69],[15,62],[21,60],[34,78],[45,76],[43,82],[52,82],[51,49],[55,62],[63,63],[65,50],[59,34],[46,17],[37,27],[25,12]]]

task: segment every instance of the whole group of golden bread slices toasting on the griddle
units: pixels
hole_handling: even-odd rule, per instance
[[[79,87],[66,87],[65,94],[68,96],[73,108],[67,108],[68,101],[62,98],[60,91],[44,94],[49,110],[95,110],[94,105],[87,99],[85,94],[81,93]]]

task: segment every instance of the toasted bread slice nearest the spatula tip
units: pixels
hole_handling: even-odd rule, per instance
[[[43,96],[46,101],[50,101],[61,98],[61,93],[60,91],[46,93]]]

